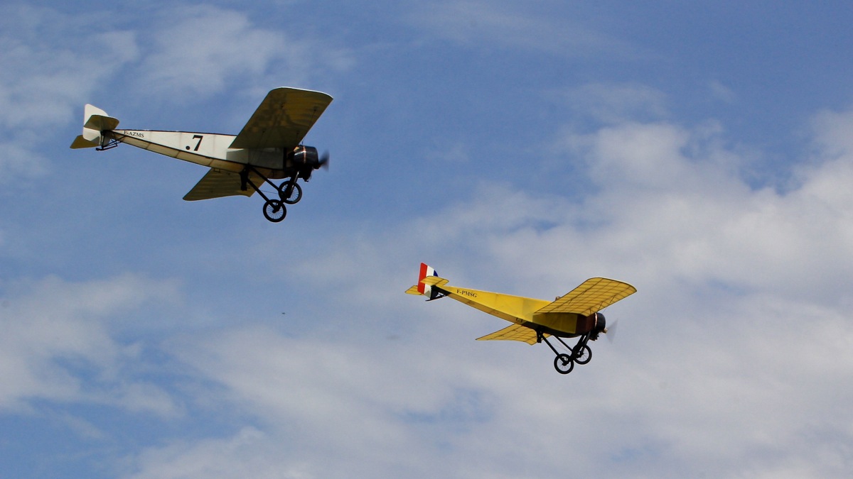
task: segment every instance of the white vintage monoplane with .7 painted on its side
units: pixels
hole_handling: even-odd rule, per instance
[[[328,167],[328,153],[302,144],[305,134],[326,110],[332,97],[319,91],[277,88],[264,101],[237,135],[193,131],[116,130],[119,120],[103,110],[86,105],[83,134],[72,148],[108,150],[126,143],[154,153],[210,168],[183,199],[252,196],[264,198],[264,216],[280,222],[287,205],[302,198],[299,178],[307,182],[311,173]],[[284,179],[276,185],[271,180]],[[278,198],[269,198],[260,187],[269,183]]]

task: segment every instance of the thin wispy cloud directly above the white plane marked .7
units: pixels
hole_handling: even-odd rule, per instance
[[[264,29],[234,10],[177,6],[160,20],[139,66],[140,90],[203,96],[248,80],[265,91],[270,84],[309,84],[318,72],[352,63],[343,49]]]

